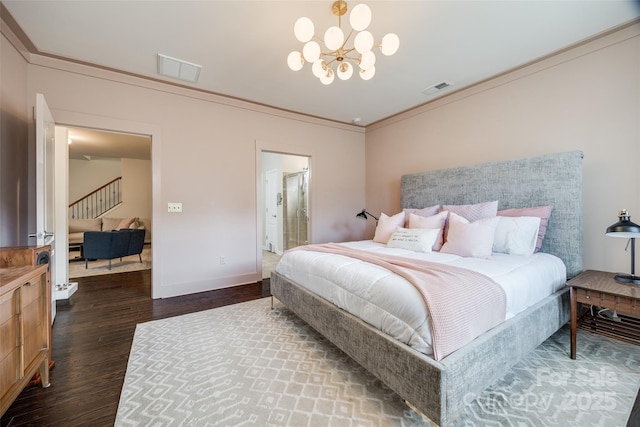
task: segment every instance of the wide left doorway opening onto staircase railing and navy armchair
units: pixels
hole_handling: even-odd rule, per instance
[[[150,269],[151,137],[83,127],[65,128],[69,139],[69,277]],[[142,252],[114,259],[110,269],[108,260],[85,264],[82,231],[87,223],[95,227],[92,221],[96,218],[102,221],[102,231],[117,227],[123,219],[134,219],[127,227],[145,230]]]

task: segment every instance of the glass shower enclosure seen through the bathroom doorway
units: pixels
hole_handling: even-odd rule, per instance
[[[290,173],[283,178],[284,249],[309,243],[309,171]]]

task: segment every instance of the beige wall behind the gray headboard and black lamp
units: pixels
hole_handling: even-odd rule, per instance
[[[388,214],[406,173],[582,150],[585,267],[628,272],[604,232],[622,208],[640,223],[640,24],[370,126],[366,145],[367,207]]]

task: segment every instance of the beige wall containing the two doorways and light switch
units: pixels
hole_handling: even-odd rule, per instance
[[[151,135],[154,297],[260,280],[261,150],[311,157],[314,242],[364,231],[361,128],[34,56],[37,92],[58,124]]]

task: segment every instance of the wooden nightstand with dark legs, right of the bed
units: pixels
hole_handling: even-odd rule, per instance
[[[587,270],[567,285],[571,289],[571,358],[576,358],[578,303],[608,308],[622,314],[620,322],[583,313],[580,327],[598,334],[640,344],[640,286],[618,283],[614,273]],[[628,316],[632,317],[628,317]]]

